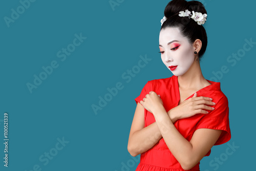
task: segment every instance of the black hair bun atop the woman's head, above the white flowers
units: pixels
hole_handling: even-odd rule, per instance
[[[164,16],[166,18],[178,15],[180,11],[188,10],[190,12],[201,12],[207,14],[204,5],[199,1],[185,1],[185,0],[173,0],[170,1],[164,9]]]

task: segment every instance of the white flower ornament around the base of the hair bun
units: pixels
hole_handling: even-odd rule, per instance
[[[191,12],[188,10],[185,10],[185,12],[180,11],[179,13],[180,13],[179,16],[181,17],[188,16],[188,18],[194,19],[198,25],[203,25],[206,22],[207,14],[202,14],[201,12],[195,12],[195,11],[192,11],[193,14],[191,14]],[[163,25],[166,19],[167,18],[165,16],[163,17],[163,19],[161,19],[161,26]]]

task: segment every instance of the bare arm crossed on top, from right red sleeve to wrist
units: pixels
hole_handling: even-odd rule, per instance
[[[221,135],[221,130],[198,129],[187,141],[176,129],[163,110],[154,112],[156,123],[170,152],[184,170],[194,167],[210,150]]]

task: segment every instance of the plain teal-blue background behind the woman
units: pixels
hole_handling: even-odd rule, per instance
[[[136,169],[139,156],[132,157],[127,151],[136,108],[134,99],[148,80],[172,76],[158,53],[160,20],[169,1],[113,2],[119,3],[111,7],[108,0],[47,0],[27,3],[24,8],[19,7],[22,4],[17,0],[1,1],[1,170]],[[229,101],[232,138],[228,143],[239,147],[228,158],[228,143],[212,147],[211,155],[201,160],[200,168],[252,169],[256,153],[256,45],[244,51],[236,63],[227,59],[232,53],[243,52],[245,39],[256,41],[256,3],[201,2],[208,13],[204,25],[208,47],[201,61],[202,72],[206,79],[213,80],[222,66],[228,69],[216,79]],[[12,9],[20,14],[7,24],[5,19],[11,18]],[[61,61],[63,57],[59,58],[57,52],[74,48],[70,44],[75,34],[87,38]],[[151,60],[127,82],[122,75],[127,76],[127,70],[138,65],[140,56]],[[30,92],[27,83],[33,84],[34,75],[39,76],[44,72],[42,67],[50,66],[54,60],[58,67]],[[108,88],[118,82],[122,89],[94,112],[92,105],[99,105],[99,97],[104,97]],[[3,162],[4,113],[8,113],[9,121],[8,168]],[[56,149],[56,145],[61,147],[58,139],[66,141],[60,150]],[[54,156],[47,163],[44,155],[49,152]],[[41,155],[44,162],[39,160]],[[210,164],[220,157],[222,163]]]

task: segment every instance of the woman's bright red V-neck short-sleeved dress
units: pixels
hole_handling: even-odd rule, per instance
[[[215,145],[223,144],[230,140],[230,128],[228,118],[228,100],[221,91],[220,82],[207,80],[211,83],[209,86],[197,91],[197,96],[211,97],[215,102],[215,110],[208,111],[208,114],[196,114],[189,118],[179,119],[174,125],[180,134],[188,141],[197,129],[223,130]],[[142,89],[140,95],[135,98],[136,103],[140,102],[146,94],[154,91],[161,96],[166,112],[178,105],[180,100],[178,77],[173,75],[169,78],[155,79],[148,81]],[[191,94],[188,98],[193,97]],[[188,99],[187,98],[187,99]],[[145,126],[154,123],[155,117],[152,113],[144,110]],[[205,155],[209,156],[210,151]],[[200,170],[200,162],[190,170]],[[180,163],[172,155],[164,139],[161,138],[151,149],[140,155],[140,163],[136,171],[154,170],[154,171],[181,171]]]

